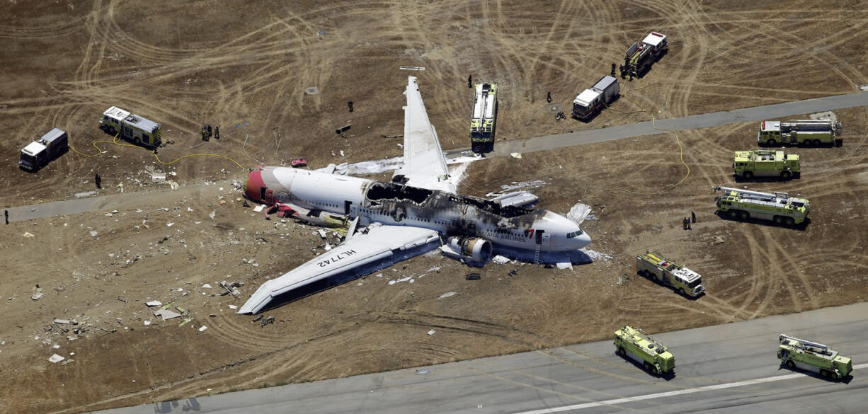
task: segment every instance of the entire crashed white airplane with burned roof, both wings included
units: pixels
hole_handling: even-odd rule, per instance
[[[404,95],[404,164],[391,182],[284,167],[260,167],[248,175],[250,200],[314,224],[347,226],[339,246],[263,283],[239,313],[260,312],[280,294],[437,240],[477,263],[489,260],[493,245],[538,255],[590,244],[575,221],[525,208],[529,200],[520,194],[494,200],[456,194],[416,77],[409,77]]]

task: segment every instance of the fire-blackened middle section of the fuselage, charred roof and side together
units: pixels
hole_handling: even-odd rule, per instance
[[[483,237],[499,244],[522,246],[545,210],[502,207],[500,203],[468,195],[404,186],[395,182],[368,183],[359,207],[359,224],[381,222],[425,227],[447,235]]]

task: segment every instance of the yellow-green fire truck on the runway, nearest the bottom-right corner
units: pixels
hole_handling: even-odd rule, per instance
[[[778,359],[791,370],[812,371],[823,378],[846,377],[853,371],[851,358],[845,358],[828,346],[781,334],[778,337]]]

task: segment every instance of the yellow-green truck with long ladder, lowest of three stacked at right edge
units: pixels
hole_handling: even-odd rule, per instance
[[[712,187],[723,194],[715,198],[718,214],[730,219],[771,220],[777,225],[793,227],[805,222],[811,212],[807,199],[786,193],[760,193],[731,187]]]

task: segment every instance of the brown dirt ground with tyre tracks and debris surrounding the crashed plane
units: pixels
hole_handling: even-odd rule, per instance
[[[853,93],[868,83],[866,23],[861,3],[844,1],[3,1],[0,205],[73,198],[94,189],[95,173],[100,194],[122,184],[148,196],[116,213],[3,227],[0,411],[90,411],[608,338],[623,324],[659,332],[865,300],[868,111],[852,108],[836,111],[842,148],[792,148],[799,180],[738,184],[805,194],[802,230],[713,215],[710,188],[735,184],[733,150],[755,145],[756,122],[733,124],[470,165],[462,193],[536,180],[539,207],[592,206],[599,220],[582,227],[603,255],[592,264],[490,264],[468,281],[470,268],[431,253],[268,311],[273,325],[229,307],[325,246],[314,227],[241,207],[232,181],[298,156],[319,168],[401,154],[384,135],[403,132],[408,75],[444,149],[464,148],[471,74],[498,83],[497,139],[515,140]],[[622,83],[630,99],[589,123],[556,122],[547,91],[569,111],[650,30],[670,51]],[[91,145],[110,141],[96,122],[112,105],[162,123],[171,143],[158,159]],[[219,141],[200,140],[207,123]],[[52,127],[94,156],[18,169],[20,149]],[[190,154],[241,168],[173,162]],[[174,172],[180,188],[151,184],[148,169]],[[683,231],[690,211],[698,222]],[[701,273],[708,294],[688,300],[635,276],[646,248]],[[243,284],[240,298],[215,295],[223,280]],[[193,320],[155,318],[152,299]],[[67,360],[52,364],[53,353]]]

